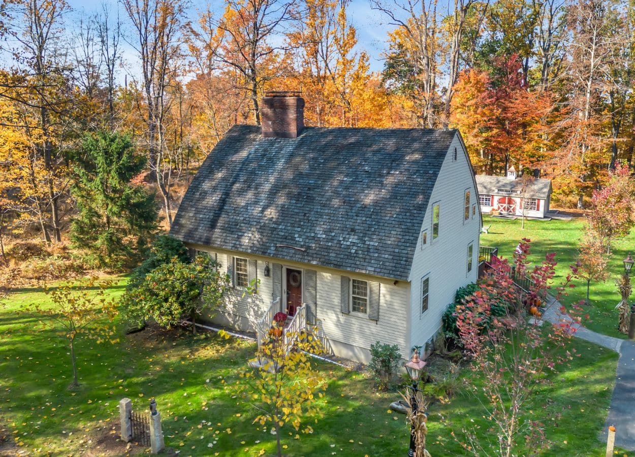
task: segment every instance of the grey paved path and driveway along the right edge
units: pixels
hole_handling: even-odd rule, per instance
[[[560,303],[551,298],[543,317],[549,322],[563,322],[571,318],[561,314]],[[620,340],[613,336],[596,333],[583,326],[575,326],[575,336],[585,341],[591,341],[602,347],[614,350],[620,354],[617,361],[615,387],[611,397],[611,406],[601,437],[606,440],[606,430],[615,425],[615,445],[635,450],[635,341]]]

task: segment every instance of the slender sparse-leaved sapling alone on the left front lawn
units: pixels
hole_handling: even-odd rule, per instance
[[[57,288],[45,287],[44,293],[50,297],[50,305],[34,303],[23,308],[24,312],[39,319],[43,329],[50,329],[67,341],[73,372],[71,388],[79,386],[77,337],[91,338],[97,343],[117,342],[114,338],[115,328],[111,324],[117,315],[117,306],[106,295],[106,289],[110,286],[112,281],[97,281],[96,277],[92,277],[87,282],[69,282]]]

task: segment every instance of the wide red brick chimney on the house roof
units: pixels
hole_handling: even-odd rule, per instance
[[[297,138],[304,128],[304,98],[295,91],[267,91],[260,105],[264,138]]]

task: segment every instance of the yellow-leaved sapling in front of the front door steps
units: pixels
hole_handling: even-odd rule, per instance
[[[326,377],[307,352],[324,352],[319,339],[311,332],[274,334],[251,361],[250,365],[255,368],[241,373],[236,384],[239,395],[257,411],[254,422],[275,427],[279,457],[282,456],[284,426],[290,423],[295,430],[300,430],[302,418],[317,413],[316,401],[326,390]],[[312,428],[306,425],[302,432],[311,433]]]

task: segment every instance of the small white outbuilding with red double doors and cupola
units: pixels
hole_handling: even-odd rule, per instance
[[[479,204],[485,213],[544,218],[549,213],[551,180],[517,178],[514,167],[507,176],[476,175]]]

